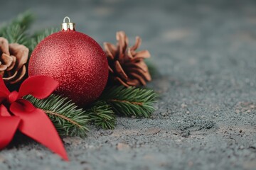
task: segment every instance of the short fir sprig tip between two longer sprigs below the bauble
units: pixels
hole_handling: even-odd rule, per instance
[[[116,116],[112,108],[105,101],[96,101],[91,108],[86,110],[90,122],[102,127],[103,129],[114,129],[116,125]]]

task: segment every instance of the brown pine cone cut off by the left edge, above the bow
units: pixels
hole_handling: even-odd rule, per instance
[[[9,44],[0,37],[0,76],[6,83],[15,84],[26,74],[28,48],[17,43]]]

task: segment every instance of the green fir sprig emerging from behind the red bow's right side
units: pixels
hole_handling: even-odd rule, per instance
[[[36,108],[41,108],[53,121],[59,135],[85,137],[88,131],[87,122],[89,117],[82,108],[55,94],[40,100],[31,95],[24,97]]]

